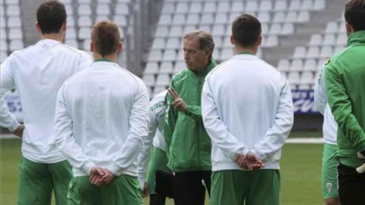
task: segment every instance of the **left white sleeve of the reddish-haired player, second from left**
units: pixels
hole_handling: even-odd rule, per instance
[[[82,151],[73,136],[73,121],[67,110],[63,92],[64,85],[59,90],[56,101],[55,144],[72,167],[83,170],[89,175],[95,163]]]

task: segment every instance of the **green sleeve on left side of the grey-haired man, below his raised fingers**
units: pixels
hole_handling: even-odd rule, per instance
[[[164,120],[164,138],[166,142],[166,155],[169,158],[170,155],[170,145],[172,140],[172,134],[175,129],[177,112],[172,107],[172,102],[174,101],[170,93],[166,97],[166,112]]]

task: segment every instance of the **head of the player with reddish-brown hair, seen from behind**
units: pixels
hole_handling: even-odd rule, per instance
[[[98,54],[104,56],[115,53],[120,42],[118,26],[110,20],[95,23],[91,30],[91,41]]]

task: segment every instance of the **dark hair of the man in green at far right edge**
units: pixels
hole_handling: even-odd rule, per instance
[[[350,0],[346,4],[345,20],[354,31],[365,30],[365,0]]]

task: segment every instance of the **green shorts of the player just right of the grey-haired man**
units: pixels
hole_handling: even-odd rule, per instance
[[[212,172],[211,205],[280,205],[279,170]]]

